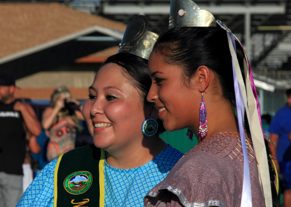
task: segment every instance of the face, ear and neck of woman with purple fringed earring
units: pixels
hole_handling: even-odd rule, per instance
[[[169,131],[191,128],[198,141],[201,91],[207,108],[207,136],[220,132],[238,132],[230,102],[222,96],[216,75],[207,66],[199,66],[194,76],[183,81],[182,68],[165,62],[164,55],[151,53],[149,74],[152,85],[147,96],[157,109],[163,109],[159,118]],[[189,84],[185,84],[189,83]]]

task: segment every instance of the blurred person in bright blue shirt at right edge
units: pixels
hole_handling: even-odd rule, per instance
[[[284,188],[284,207],[291,206],[291,89],[286,91],[287,104],[279,109],[269,127],[270,138],[277,149],[270,145],[273,159],[277,169],[283,174],[282,186]]]

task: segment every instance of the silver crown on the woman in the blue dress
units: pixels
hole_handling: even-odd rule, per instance
[[[148,18],[136,16],[127,24],[118,53],[130,53],[148,60],[158,37],[148,31]]]

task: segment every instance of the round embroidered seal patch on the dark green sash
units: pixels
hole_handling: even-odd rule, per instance
[[[86,192],[92,184],[92,174],[88,171],[78,171],[69,174],[64,180],[65,190],[74,195]]]

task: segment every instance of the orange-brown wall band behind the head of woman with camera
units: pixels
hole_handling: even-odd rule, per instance
[[[68,88],[73,98],[87,99],[88,88]],[[50,100],[55,88],[22,88],[16,89],[14,92],[15,98],[30,98]]]

